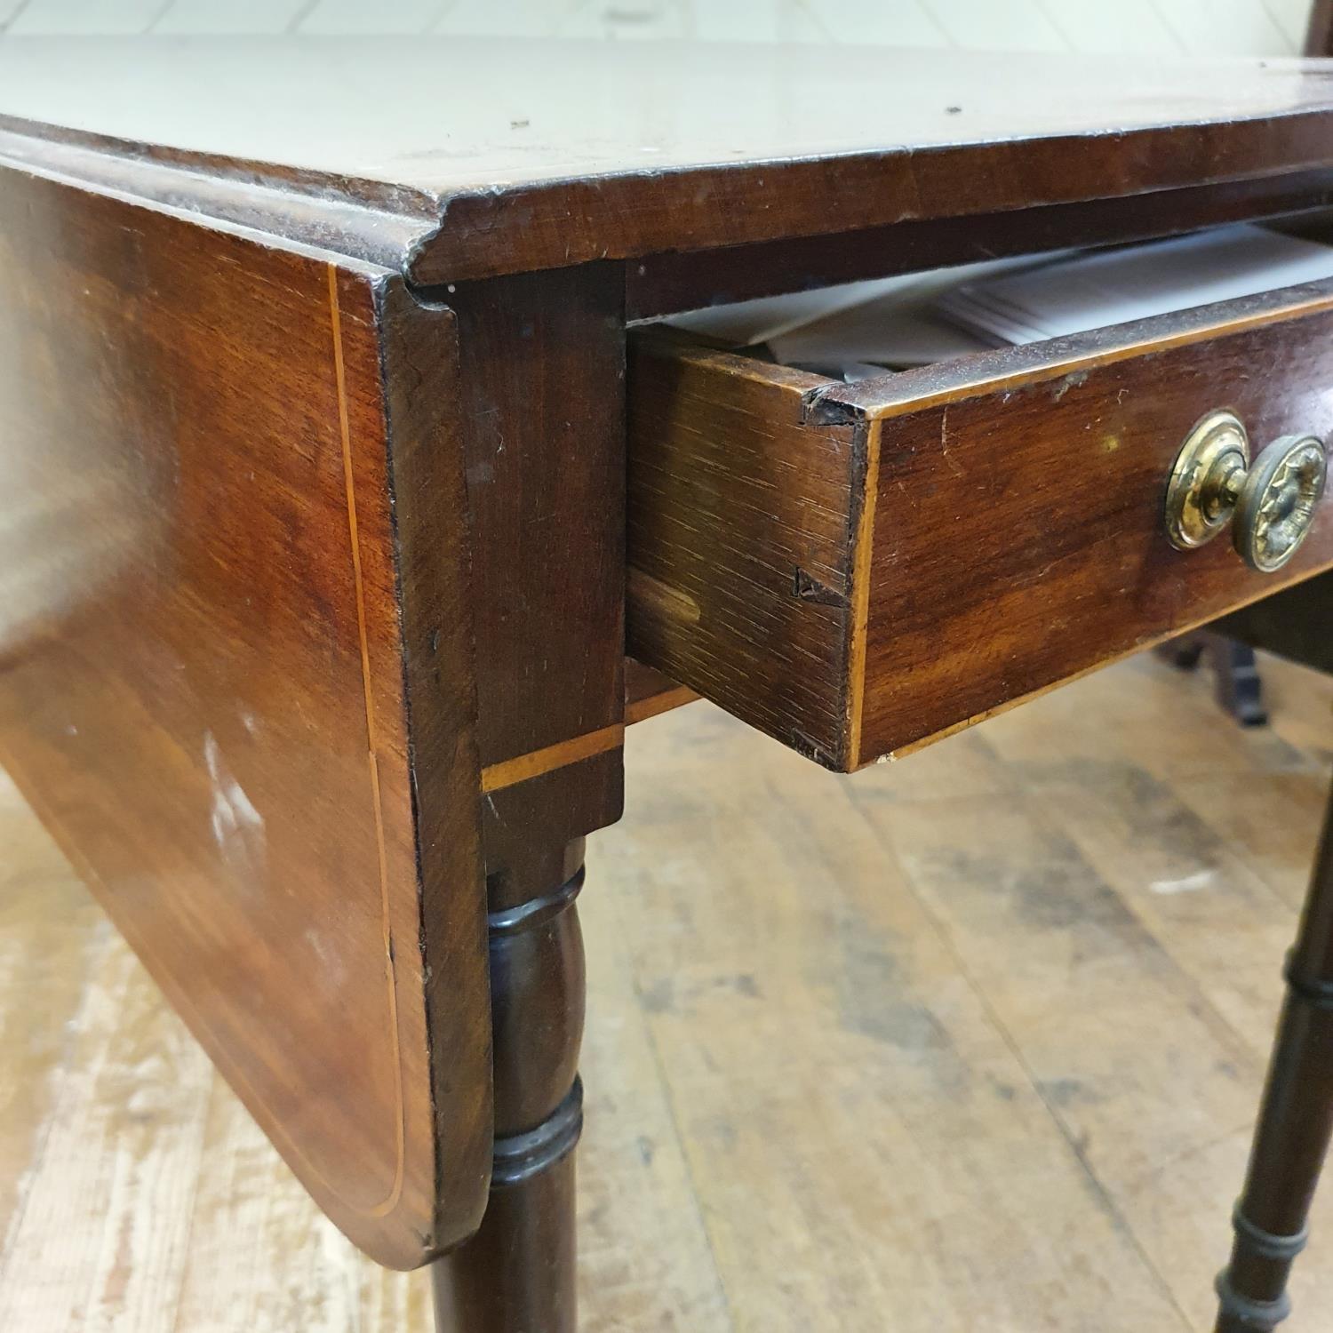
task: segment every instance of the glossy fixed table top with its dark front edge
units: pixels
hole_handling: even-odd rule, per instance
[[[15,39],[0,113],[259,217],[263,189],[375,215],[424,283],[1333,167],[1333,64],[1302,60]]]

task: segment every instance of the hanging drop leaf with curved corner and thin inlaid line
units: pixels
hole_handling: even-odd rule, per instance
[[[453,337],[383,271],[0,175],[0,756],[397,1266],[491,1145]]]

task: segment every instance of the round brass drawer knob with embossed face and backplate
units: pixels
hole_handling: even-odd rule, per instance
[[[1328,453],[1313,435],[1284,435],[1249,463],[1233,412],[1210,412],[1185,437],[1166,487],[1166,536],[1178,551],[1212,541],[1232,523],[1236,553],[1272,573],[1309,536],[1324,495]]]

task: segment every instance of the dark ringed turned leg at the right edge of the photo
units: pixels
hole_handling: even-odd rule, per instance
[[[1266,1333],[1290,1313],[1286,1278],[1333,1133],[1333,798],[1286,984],[1232,1260],[1217,1278],[1217,1333]]]

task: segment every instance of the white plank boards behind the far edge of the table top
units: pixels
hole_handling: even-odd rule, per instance
[[[471,33],[1298,55],[1309,0],[0,0],[0,32]]]

